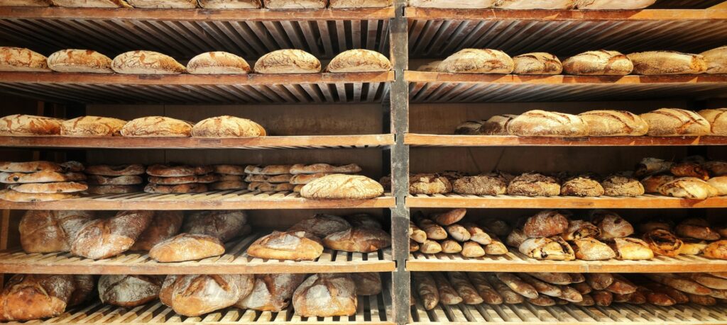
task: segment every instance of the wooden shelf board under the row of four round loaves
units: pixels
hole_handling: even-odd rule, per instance
[[[1,147],[113,149],[351,149],[387,147],[393,134],[260,136],[244,138],[129,138],[121,136],[0,136]]]

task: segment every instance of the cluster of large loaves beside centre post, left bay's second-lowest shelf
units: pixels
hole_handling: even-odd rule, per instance
[[[316,260],[324,247],[343,252],[376,252],[391,246],[391,235],[376,218],[366,214],[314,215],[286,231],[273,231],[247,248],[254,258]]]

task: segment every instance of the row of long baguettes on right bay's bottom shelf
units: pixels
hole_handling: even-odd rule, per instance
[[[727,302],[725,273],[475,273],[412,272],[414,305],[579,305],[612,303],[671,306]]]

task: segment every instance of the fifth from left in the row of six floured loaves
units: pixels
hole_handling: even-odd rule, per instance
[[[267,7],[267,2],[265,1]],[[305,1],[281,1],[298,4]],[[317,2],[317,1],[316,1]],[[326,2],[326,1],[323,1]],[[281,49],[263,55],[255,62],[256,73],[320,73],[321,62],[300,49]]]

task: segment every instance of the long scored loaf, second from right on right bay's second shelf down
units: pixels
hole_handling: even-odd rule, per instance
[[[707,71],[707,62],[698,54],[650,51],[627,54],[637,75],[683,75]]]

